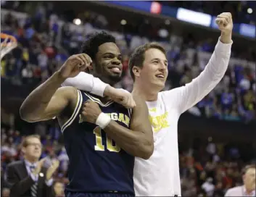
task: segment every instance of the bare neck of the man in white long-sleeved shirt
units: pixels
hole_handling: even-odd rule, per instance
[[[141,87],[139,83],[134,83],[133,93],[138,94],[145,101],[157,101],[158,91],[155,91],[154,88],[146,88],[146,85]]]

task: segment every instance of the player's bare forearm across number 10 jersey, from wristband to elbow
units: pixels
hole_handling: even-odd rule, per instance
[[[128,154],[143,159],[149,159],[151,156],[152,141],[146,133],[129,130],[113,120],[104,127],[104,131]]]

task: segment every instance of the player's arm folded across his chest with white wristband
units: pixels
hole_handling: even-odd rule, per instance
[[[154,151],[152,126],[149,122],[149,111],[146,102],[139,96],[133,96],[136,106],[131,114],[130,127],[119,125],[110,116],[104,114],[99,105],[93,101],[83,104],[83,120],[99,125],[107,136],[123,148],[128,154],[149,159]]]

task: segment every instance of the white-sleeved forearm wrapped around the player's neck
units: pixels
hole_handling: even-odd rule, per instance
[[[78,88],[78,90],[88,91],[94,93],[97,96],[107,96],[105,95],[106,87],[109,86],[107,83],[102,82],[99,78],[94,77],[86,72],[80,72],[75,77],[67,78],[62,86],[73,86]]]

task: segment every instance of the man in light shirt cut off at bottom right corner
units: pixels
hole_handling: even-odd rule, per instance
[[[247,165],[242,170],[244,185],[227,190],[225,196],[255,196],[255,164]]]

